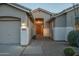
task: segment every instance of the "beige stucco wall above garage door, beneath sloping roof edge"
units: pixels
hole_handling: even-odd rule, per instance
[[[0,5],[0,16],[14,16],[26,20],[26,13],[7,4]],[[25,17],[26,16],[26,17]]]

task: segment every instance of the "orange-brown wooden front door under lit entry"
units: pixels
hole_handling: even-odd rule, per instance
[[[35,28],[36,28],[36,38],[42,39],[43,38],[43,19],[42,18],[35,19]]]

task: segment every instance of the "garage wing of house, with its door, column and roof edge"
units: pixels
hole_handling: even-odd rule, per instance
[[[16,3],[0,3],[0,44],[29,43],[30,12],[31,9]]]

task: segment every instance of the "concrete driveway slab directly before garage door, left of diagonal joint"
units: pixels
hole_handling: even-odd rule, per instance
[[[18,56],[24,47],[19,45],[0,45],[0,56]]]

